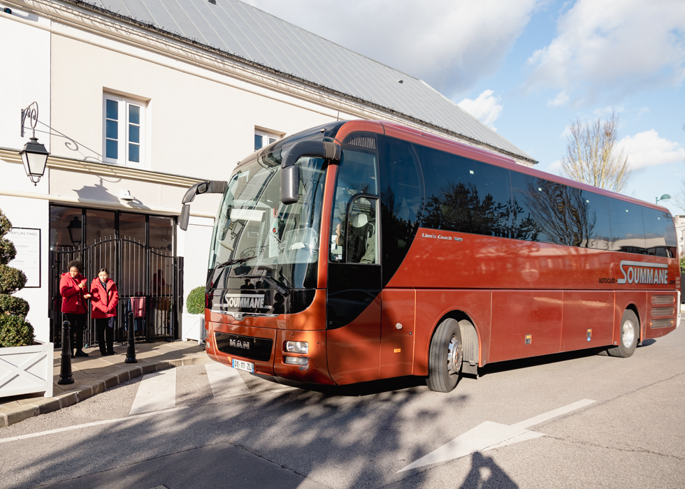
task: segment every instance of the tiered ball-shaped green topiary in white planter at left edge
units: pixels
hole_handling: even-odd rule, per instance
[[[34,328],[26,320],[29,303],[10,294],[26,285],[26,275],[7,264],[17,255],[17,250],[4,235],[12,223],[0,210],[0,347],[24,346],[34,342]]]

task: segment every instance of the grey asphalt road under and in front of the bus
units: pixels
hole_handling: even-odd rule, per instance
[[[685,328],[627,359],[489,365],[449,394],[242,373],[215,397],[205,369],[175,369],[163,411],[129,416],[134,379],[0,429],[0,488],[685,487]]]

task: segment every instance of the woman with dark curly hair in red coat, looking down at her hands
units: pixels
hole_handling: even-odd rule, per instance
[[[59,277],[59,294],[62,295],[64,319],[71,324],[71,358],[88,356],[83,351],[83,330],[86,324],[86,300],[90,298],[90,294],[86,278],[81,275],[83,262],[72,260],[68,266],[69,272]]]

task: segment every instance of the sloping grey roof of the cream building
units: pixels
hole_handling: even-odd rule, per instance
[[[426,82],[238,0],[84,3],[535,161]]]

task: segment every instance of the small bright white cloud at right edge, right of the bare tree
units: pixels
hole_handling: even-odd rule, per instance
[[[628,154],[633,170],[685,161],[685,148],[679,143],[660,138],[654,129],[626,136],[619,141],[619,149]]]

